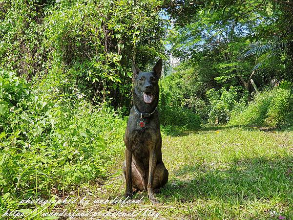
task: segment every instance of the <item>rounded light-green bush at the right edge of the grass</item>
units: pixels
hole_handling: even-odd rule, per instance
[[[235,111],[231,125],[284,126],[293,123],[292,93],[290,89],[274,88],[255,96],[241,111]]]

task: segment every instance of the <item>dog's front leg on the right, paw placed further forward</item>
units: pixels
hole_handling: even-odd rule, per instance
[[[157,163],[157,155],[155,149],[151,149],[149,153],[149,164],[148,164],[148,183],[147,183],[147,194],[151,203],[158,203],[153,192],[153,182],[155,176],[155,168]]]

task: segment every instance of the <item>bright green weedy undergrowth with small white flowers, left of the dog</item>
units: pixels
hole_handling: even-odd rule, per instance
[[[126,125],[111,108],[92,107],[76,88],[36,92],[3,70],[0,85],[0,214],[16,199],[107,175]]]

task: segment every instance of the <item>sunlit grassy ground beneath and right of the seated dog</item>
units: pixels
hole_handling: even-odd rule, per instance
[[[163,135],[162,151],[169,181],[156,195],[160,204],[151,205],[146,192],[134,196],[140,204],[93,204],[123,198],[122,156],[113,176],[80,192],[88,204],[67,210],[116,213],[117,219],[293,219],[293,132],[206,128]]]

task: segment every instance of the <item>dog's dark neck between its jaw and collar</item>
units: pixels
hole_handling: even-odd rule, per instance
[[[135,105],[135,108],[142,113],[153,112],[156,109],[159,102],[159,89],[154,94],[155,98],[150,104],[145,103],[144,99],[137,94],[138,92],[139,91],[137,91],[136,88],[133,89],[133,104]]]

